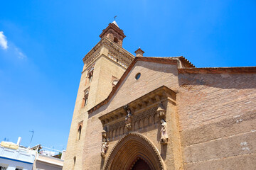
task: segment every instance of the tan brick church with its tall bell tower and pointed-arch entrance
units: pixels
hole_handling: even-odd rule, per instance
[[[63,169],[256,169],[256,67],[124,50],[114,21],[83,58]]]

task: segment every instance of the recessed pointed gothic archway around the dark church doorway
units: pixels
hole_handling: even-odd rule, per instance
[[[132,169],[138,160],[142,160],[140,164],[146,163],[151,170],[165,169],[156,147],[144,135],[129,132],[114,145],[104,169]]]

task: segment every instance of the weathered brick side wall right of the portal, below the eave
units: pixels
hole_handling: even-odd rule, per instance
[[[256,75],[179,74],[185,169],[255,169]]]

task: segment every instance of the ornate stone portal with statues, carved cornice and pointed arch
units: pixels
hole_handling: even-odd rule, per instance
[[[130,169],[137,159],[143,159],[151,169],[166,169],[163,160],[167,155],[169,160],[181,157],[176,118],[176,93],[166,86],[100,116],[106,130],[106,135],[102,135],[101,152],[102,157],[107,157],[102,162],[104,169]],[[168,125],[171,128],[167,128]],[[142,135],[145,140],[134,140],[137,135]],[[170,141],[169,137],[175,142]],[[125,142],[118,145],[124,138]],[[145,141],[149,141],[150,147]],[[107,149],[111,149],[111,152],[107,152]],[[174,152],[174,149],[178,151]],[[153,154],[154,150],[156,154]],[[175,169],[180,165],[180,162],[173,162],[170,168]]]

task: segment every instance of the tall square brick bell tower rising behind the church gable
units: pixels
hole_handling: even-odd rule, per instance
[[[84,66],[75,101],[63,169],[83,169],[87,111],[109,96],[134,55],[122,48],[125,38],[116,21],[100,34],[100,42],[82,59]],[[102,128],[102,127],[99,127]],[[87,135],[90,136],[90,135]]]

